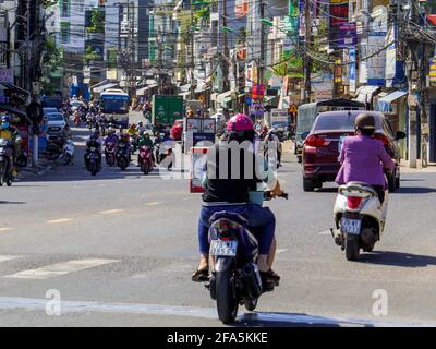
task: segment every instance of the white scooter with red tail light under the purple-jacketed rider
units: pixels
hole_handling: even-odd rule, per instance
[[[339,188],[335,202],[336,228],[331,229],[336,244],[346,250],[348,261],[359,257],[360,249],[372,252],[385,229],[389,193],[383,204],[377,192],[367,183],[349,182]]]

